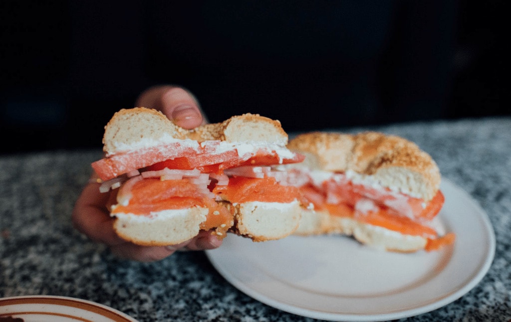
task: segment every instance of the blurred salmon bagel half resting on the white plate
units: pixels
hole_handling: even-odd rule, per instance
[[[436,217],[445,201],[440,171],[415,143],[378,132],[311,132],[288,148],[305,155],[286,166],[309,204],[296,235],[343,234],[395,252],[454,242]]]

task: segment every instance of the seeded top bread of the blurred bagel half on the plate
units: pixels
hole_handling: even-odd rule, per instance
[[[312,132],[296,136],[288,148],[305,154],[304,165],[310,169],[353,171],[426,202],[440,187],[440,171],[435,161],[402,137],[378,132],[356,135]]]

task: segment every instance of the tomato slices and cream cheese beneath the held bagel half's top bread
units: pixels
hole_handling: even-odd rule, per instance
[[[287,164],[303,161],[304,157],[276,143],[225,142],[191,139],[167,139],[155,144],[142,139],[124,146],[122,152],[92,163],[102,180],[110,180],[130,171],[152,165],[152,168],[194,169],[203,172],[221,172],[242,165]]]

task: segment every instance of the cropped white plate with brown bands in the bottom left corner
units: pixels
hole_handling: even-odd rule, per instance
[[[12,316],[25,322],[136,322],[108,306],[65,296],[14,296],[0,299],[0,317]]]

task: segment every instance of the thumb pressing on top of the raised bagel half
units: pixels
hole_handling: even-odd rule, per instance
[[[160,110],[176,125],[185,129],[193,129],[206,123],[196,98],[180,87],[150,88],[140,96],[136,105]]]

